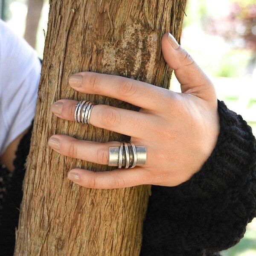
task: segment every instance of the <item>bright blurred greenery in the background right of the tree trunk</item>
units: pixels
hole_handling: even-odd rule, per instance
[[[188,0],[181,44],[256,135],[256,1]],[[173,87],[178,89],[179,84]],[[223,256],[256,256],[256,219]]]

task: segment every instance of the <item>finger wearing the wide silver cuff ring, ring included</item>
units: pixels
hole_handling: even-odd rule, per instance
[[[87,162],[119,168],[133,168],[146,162],[146,148],[131,142],[99,143],[77,140],[67,135],[53,135],[49,146],[60,154]],[[119,144],[119,145],[118,145]],[[86,150],[84,150],[86,148]]]

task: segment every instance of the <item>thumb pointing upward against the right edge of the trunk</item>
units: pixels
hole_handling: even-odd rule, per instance
[[[182,93],[190,93],[207,101],[216,101],[212,81],[170,33],[163,35],[162,51],[165,61],[174,70],[180,82]]]

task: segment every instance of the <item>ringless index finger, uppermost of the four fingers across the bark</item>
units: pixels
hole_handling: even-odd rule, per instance
[[[70,77],[69,84],[81,93],[120,99],[151,111],[166,105],[165,99],[172,93],[167,89],[134,79],[94,72],[76,73]]]

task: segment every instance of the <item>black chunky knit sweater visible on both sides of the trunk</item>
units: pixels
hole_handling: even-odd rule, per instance
[[[218,142],[202,169],[179,186],[152,186],[141,256],[218,255],[239,242],[256,216],[255,137],[241,116],[223,102],[218,102],[218,112]],[[0,208],[0,254],[4,256],[14,250],[30,136],[31,130],[20,142],[15,172],[5,185]]]

